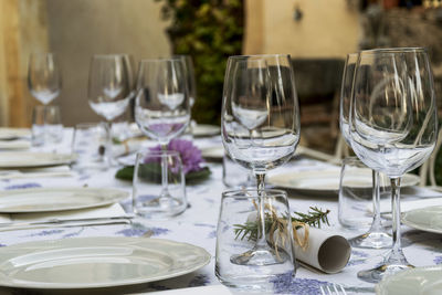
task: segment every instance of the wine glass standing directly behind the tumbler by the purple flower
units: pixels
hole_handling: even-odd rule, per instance
[[[156,139],[167,151],[170,139],[180,135],[189,124],[190,105],[182,59],[143,60],[138,69],[135,97],[135,120],[140,130]],[[168,164],[161,161],[161,192],[149,202],[157,207],[152,214],[170,217],[186,208],[182,200],[168,191]]]

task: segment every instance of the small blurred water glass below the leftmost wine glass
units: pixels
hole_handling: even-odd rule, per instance
[[[63,124],[59,106],[35,106],[32,110],[32,145],[61,143]]]

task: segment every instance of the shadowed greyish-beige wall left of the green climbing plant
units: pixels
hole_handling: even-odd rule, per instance
[[[130,53],[140,59],[170,54],[160,4],[152,0],[45,0],[50,48],[59,53],[63,89],[63,123],[101,120],[88,106],[87,75],[91,56]]]

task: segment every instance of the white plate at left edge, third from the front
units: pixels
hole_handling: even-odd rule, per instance
[[[6,151],[0,154],[0,169],[66,165],[74,159],[71,154]]]

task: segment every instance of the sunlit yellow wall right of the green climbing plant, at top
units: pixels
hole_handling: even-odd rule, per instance
[[[299,21],[295,4],[303,13]],[[246,13],[246,54],[345,57],[358,48],[359,17],[347,0],[248,0]]]

